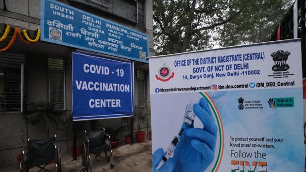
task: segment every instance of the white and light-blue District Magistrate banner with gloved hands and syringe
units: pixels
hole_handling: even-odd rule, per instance
[[[151,57],[153,172],[303,172],[301,62],[300,39]]]

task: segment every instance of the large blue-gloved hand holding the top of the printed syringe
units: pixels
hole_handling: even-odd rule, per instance
[[[174,150],[172,172],[204,172],[214,160],[218,129],[206,100],[194,104],[193,111],[204,128],[183,123],[185,131]]]

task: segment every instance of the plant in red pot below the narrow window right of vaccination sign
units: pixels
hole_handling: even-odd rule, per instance
[[[135,111],[135,116],[137,118],[137,132],[135,133],[136,135],[136,141],[137,143],[142,143],[144,142],[144,136],[145,136],[145,132],[144,131],[140,131],[140,127],[141,124],[146,124],[147,123],[147,113],[145,113],[144,111]]]

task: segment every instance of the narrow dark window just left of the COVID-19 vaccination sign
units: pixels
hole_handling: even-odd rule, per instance
[[[63,59],[48,59],[49,70],[49,101],[54,103],[54,109],[65,110],[65,70]]]

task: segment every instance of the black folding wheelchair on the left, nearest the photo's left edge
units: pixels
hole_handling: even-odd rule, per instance
[[[56,145],[55,137],[45,139],[28,138],[27,146],[22,151],[22,161],[19,172],[29,172],[32,167],[38,167],[40,171],[51,172],[45,167],[55,161],[55,172],[61,172],[61,151]]]

